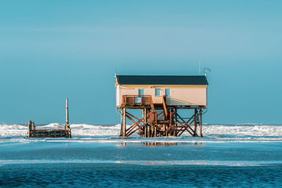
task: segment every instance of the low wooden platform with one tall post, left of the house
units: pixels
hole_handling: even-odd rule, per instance
[[[27,137],[67,137],[71,138],[71,127],[68,124],[68,99],[66,99],[66,122],[64,130],[36,130],[35,123],[32,120],[28,121]]]

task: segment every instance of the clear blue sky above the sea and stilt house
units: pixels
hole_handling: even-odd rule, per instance
[[[0,1],[0,123],[117,124],[114,73],[207,75],[204,123],[282,124],[282,1]],[[202,73],[201,73],[202,75]]]

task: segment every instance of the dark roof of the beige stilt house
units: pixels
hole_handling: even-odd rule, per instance
[[[127,85],[207,85],[205,76],[117,75],[118,84]]]

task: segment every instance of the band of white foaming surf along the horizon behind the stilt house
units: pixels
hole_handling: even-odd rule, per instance
[[[49,125],[37,125],[37,129],[63,129],[64,125],[51,123]],[[120,125],[86,125],[71,124],[73,137],[99,137],[118,136]],[[202,133],[205,137],[282,137],[281,125],[203,125]],[[183,135],[189,135],[185,132]],[[0,137],[27,136],[27,125],[0,124]]]

